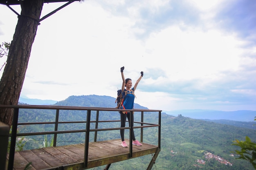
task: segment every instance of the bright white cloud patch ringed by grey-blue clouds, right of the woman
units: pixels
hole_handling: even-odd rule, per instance
[[[240,40],[217,30],[182,31],[178,26],[154,33],[146,42],[149,67],[161,67],[173,78],[191,79],[224,70],[237,70],[242,53]],[[148,56],[148,57],[147,57]]]

